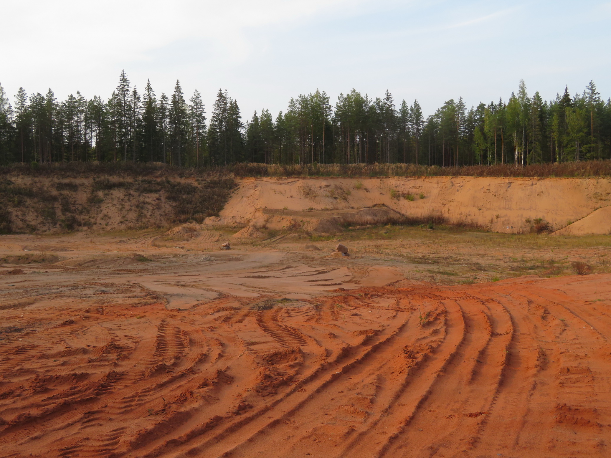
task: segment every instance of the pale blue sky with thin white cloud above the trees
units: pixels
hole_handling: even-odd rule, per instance
[[[419,100],[507,100],[524,79],[546,100],[590,79],[611,96],[611,2],[595,0],[4,0],[0,83],[108,98],[122,69],[157,95],[180,79],[210,117],[219,88],[244,120],[291,96],[352,88]]]

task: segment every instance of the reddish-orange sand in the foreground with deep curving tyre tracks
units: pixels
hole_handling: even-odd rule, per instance
[[[0,457],[611,456],[611,275],[168,310],[79,272],[2,280]]]

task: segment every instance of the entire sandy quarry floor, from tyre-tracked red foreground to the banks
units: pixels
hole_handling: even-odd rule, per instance
[[[230,235],[2,236],[0,457],[610,456],[608,236]]]

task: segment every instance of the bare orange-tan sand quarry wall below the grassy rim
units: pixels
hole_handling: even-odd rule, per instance
[[[209,224],[252,224],[269,209],[329,211],[383,204],[406,216],[442,216],[452,223],[523,233],[538,218],[559,230],[611,205],[609,178],[265,177],[239,183],[220,217],[208,218]]]

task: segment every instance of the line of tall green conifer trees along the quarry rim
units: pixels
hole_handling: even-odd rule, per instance
[[[208,122],[206,114],[197,90],[186,99],[177,81],[171,95],[157,96],[148,81],[139,92],[125,71],[106,101],[78,91],[59,101],[51,89],[20,88],[10,103],[0,85],[0,162],[449,166],[611,158],[611,100],[593,81],[581,94],[565,87],[549,101],[529,96],[520,81],[507,100],[467,109],[463,98],[452,99],[426,118],[416,100],[353,89],[334,106],[316,90],[291,98],[276,117],[263,109],[244,121],[237,101],[219,90]]]

